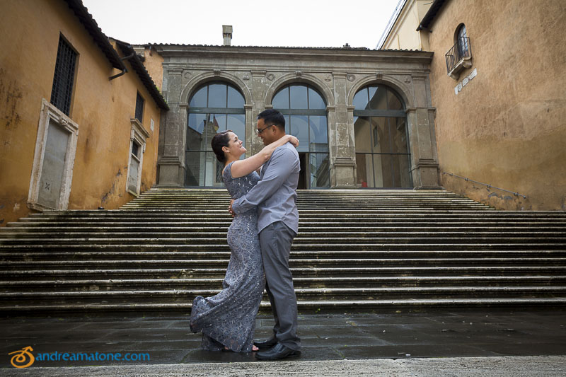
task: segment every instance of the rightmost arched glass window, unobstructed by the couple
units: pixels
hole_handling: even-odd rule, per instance
[[[399,96],[370,85],[354,95],[358,187],[412,187],[407,116]]]

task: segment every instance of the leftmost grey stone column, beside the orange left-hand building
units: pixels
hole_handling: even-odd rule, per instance
[[[167,71],[166,113],[161,127],[163,131],[163,155],[158,158],[158,186],[182,187],[185,181],[185,127],[187,122],[187,104],[180,106],[181,73],[183,69],[169,68]],[[183,117],[184,115],[184,117]]]

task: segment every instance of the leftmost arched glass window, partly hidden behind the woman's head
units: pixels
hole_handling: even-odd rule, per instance
[[[222,82],[206,83],[191,96],[185,148],[185,186],[223,185],[224,166],[216,160],[210,142],[218,132],[231,129],[246,144],[244,103],[238,89]]]

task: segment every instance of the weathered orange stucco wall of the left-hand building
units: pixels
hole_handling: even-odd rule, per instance
[[[160,112],[129,65],[128,74],[108,80],[117,70],[64,1],[4,1],[0,35],[0,226],[30,212],[37,126],[42,98],[51,98],[59,35],[79,54],[70,112],[79,135],[69,209],[112,209],[132,199],[126,170],[137,90],[146,100],[144,127],[150,134],[141,190],[153,185]]]

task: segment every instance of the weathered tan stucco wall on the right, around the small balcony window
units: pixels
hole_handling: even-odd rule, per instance
[[[458,25],[473,65],[458,81],[444,54]],[[440,169],[527,195],[442,175],[446,189],[499,209],[566,209],[566,3],[448,1],[429,34]],[[456,95],[473,70],[477,76]]]

